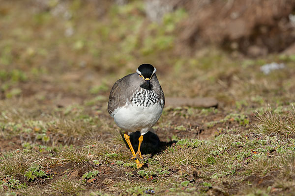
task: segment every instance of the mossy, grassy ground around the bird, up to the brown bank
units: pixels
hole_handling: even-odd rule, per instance
[[[0,4],[1,195],[294,193],[294,56],[176,54],[185,11],[154,24],[142,1]],[[273,61],[286,67],[260,72]],[[137,170],[107,101],[141,63],[157,68],[166,97],[214,97],[219,106],[164,108]]]

